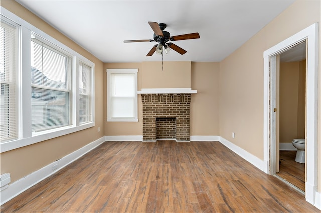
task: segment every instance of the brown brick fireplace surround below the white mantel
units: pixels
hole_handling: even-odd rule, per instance
[[[143,141],[156,141],[173,136],[176,141],[190,141],[191,94],[141,94],[141,100]],[[160,129],[156,129],[156,118],[157,122],[160,122],[158,127],[162,124]]]

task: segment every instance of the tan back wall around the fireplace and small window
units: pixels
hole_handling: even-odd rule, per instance
[[[142,88],[192,88],[190,135],[218,135],[219,133],[219,64],[190,61],[142,63],[106,63],[108,68],[138,68],[138,90]],[[107,75],[104,74],[104,90]],[[204,104],[206,103],[206,104]],[[107,97],[104,96],[105,120]],[[138,122],[106,122],[105,135],[142,135],[142,103],[138,95]]]

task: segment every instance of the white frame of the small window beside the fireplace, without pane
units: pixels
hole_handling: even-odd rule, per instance
[[[138,122],[138,69],[106,69],[107,72],[107,122]],[[112,94],[111,75],[112,74],[134,74],[134,117],[112,117]]]

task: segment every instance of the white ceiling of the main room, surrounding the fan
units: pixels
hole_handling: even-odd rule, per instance
[[[165,23],[171,36],[199,32],[200,39],[174,41],[187,51],[164,61],[218,62],[291,5],[293,0],[19,0],[103,62],[160,61],[146,57],[155,42],[148,21]]]

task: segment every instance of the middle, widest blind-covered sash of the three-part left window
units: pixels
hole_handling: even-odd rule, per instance
[[[72,124],[72,57],[32,35],[31,114],[32,131]]]

